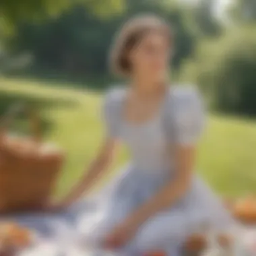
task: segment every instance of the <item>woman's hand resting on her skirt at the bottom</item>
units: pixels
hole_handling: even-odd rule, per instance
[[[132,222],[124,222],[116,226],[104,239],[105,249],[118,249],[125,246],[137,232],[137,226]]]

